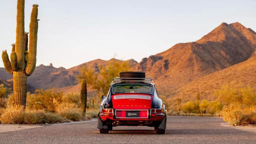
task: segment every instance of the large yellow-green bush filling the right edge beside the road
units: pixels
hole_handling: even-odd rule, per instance
[[[226,122],[233,126],[256,124],[256,88],[226,85],[214,94],[225,106],[222,116]]]

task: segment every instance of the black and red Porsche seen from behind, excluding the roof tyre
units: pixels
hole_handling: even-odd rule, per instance
[[[154,83],[145,79],[125,79],[112,83],[108,96],[100,106],[98,128],[101,133],[108,133],[113,126],[151,126],[155,127],[157,133],[161,130],[160,133],[164,133],[164,104],[155,96]]]

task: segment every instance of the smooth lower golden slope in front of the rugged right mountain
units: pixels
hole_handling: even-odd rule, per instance
[[[256,53],[246,60],[224,70],[197,78],[175,91],[174,96],[182,100],[194,100],[200,92],[201,99],[214,100],[214,90],[220,89],[223,85],[232,83],[234,86],[256,86]]]

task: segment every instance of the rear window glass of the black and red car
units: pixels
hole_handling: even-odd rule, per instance
[[[118,93],[152,93],[152,86],[147,84],[118,84],[113,86],[113,94]]]

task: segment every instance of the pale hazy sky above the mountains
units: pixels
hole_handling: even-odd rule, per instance
[[[35,3],[37,65],[70,68],[114,54],[140,62],[174,44],[196,41],[222,22],[256,31],[256,0],[26,0],[26,31]],[[0,18],[0,50],[10,54],[16,0],[1,0]]]

